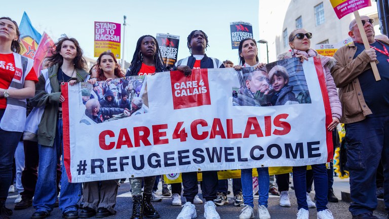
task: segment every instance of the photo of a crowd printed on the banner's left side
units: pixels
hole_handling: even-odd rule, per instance
[[[95,84],[82,83],[85,112],[81,124],[93,125],[148,112],[145,76],[132,76]]]

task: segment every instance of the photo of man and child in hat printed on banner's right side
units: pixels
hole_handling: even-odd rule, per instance
[[[311,103],[299,58],[279,60],[262,68],[237,71],[240,88],[232,88],[234,106],[277,106]]]

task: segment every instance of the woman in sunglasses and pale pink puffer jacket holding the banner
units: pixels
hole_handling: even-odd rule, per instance
[[[292,57],[299,57],[301,62],[308,60],[309,57],[318,56],[318,53],[310,49],[310,39],[312,33],[307,32],[305,29],[295,29],[289,35],[288,52],[280,54],[277,59],[287,59]],[[332,57],[319,55],[323,72],[325,72],[326,87],[328,97],[330,100],[332,123],[327,127],[328,131],[332,131],[339,123],[341,116],[341,104],[339,101],[338,93],[334,83],[334,79],[331,76],[330,69],[335,65],[335,60]],[[315,191],[316,191],[316,206],[318,211],[318,219],[334,218],[330,210],[327,209],[327,194],[328,194],[328,178],[326,164],[312,165]],[[297,198],[298,213],[297,218],[308,218],[308,206],[306,203],[306,166],[294,166],[293,167],[293,184]]]

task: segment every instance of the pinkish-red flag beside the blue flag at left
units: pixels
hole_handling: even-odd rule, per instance
[[[55,49],[53,40],[46,32],[43,32],[41,42],[39,43],[34,56],[34,70],[37,76],[41,75],[41,70],[45,64],[45,58],[51,55],[52,49]]]

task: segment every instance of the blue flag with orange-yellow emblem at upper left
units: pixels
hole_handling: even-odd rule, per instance
[[[22,20],[20,21],[19,31],[20,44],[22,45],[20,54],[33,59],[42,35],[32,26],[26,12],[23,13]]]

